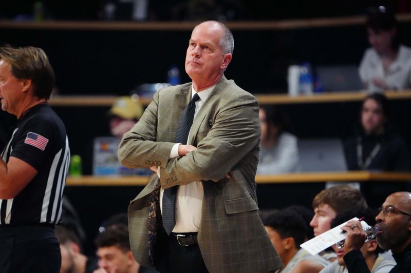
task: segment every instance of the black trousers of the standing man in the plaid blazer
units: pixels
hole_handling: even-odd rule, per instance
[[[197,243],[181,246],[176,237],[158,232],[155,266],[160,273],[208,273]],[[159,234],[161,233],[161,234]]]

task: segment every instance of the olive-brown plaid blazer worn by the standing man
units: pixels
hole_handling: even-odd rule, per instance
[[[148,214],[159,214],[150,202],[153,192],[158,194],[160,186],[201,180],[204,199],[198,244],[208,270],[256,273],[281,267],[257,213],[257,100],[223,76],[193,122],[189,144],[197,150],[169,159],[180,116],[190,99],[191,83],[158,91],[119,146],[119,160],[129,168],[160,166],[160,179],[152,179],[128,207],[130,244],[137,262],[153,267]],[[157,219],[154,225],[160,228],[161,217]]]

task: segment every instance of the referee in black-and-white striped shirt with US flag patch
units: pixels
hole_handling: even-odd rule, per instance
[[[0,271],[59,272],[54,225],[61,221],[70,152],[47,104],[54,72],[40,48],[0,48],[2,110],[17,116],[0,160]]]

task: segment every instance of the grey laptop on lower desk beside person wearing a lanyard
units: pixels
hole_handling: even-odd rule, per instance
[[[297,145],[300,172],[347,170],[340,139],[300,139]]]

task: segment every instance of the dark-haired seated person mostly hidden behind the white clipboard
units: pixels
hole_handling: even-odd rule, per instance
[[[357,211],[345,211],[343,213],[337,214],[337,216],[331,221],[331,228],[334,228],[354,217],[364,217],[364,221],[368,225],[375,225],[377,216],[377,211],[373,209],[361,209]],[[345,243],[345,242],[344,242]],[[342,243],[341,243],[342,244]],[[327,265],[321,273],[339,273],[339,272],[348,272],[348,269],[344,262],[345,251],[344,247],[341,248],[341,244],[335,244],[332,246],[334,251],[337,253],[337,260]],[[340,248],[339,248],[340,247]],[[396,263],[394,260],[384,259],[382,256],[379,256],[384,250],[382,250],[378,244],[377,240],[370,240],[360,248],[361,254],[366,261],[368,269],[372,273],[387,273],[393,268]]]

